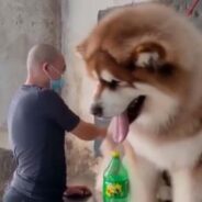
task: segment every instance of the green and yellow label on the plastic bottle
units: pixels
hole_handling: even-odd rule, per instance
[[[128,197],[128,181],[104,182],[104,195],[109,199],[124,199]]]

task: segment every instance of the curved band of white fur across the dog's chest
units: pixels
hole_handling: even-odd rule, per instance
[[[127,139],[136,154],[149,159],[161,169],[176,169],[194,165],[202,154],[202,133],[194,137],[167,144],[154,143],[134,132],[130,132]]]

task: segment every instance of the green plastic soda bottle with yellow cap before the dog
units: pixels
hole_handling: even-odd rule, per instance
[[[103,175],[103,202],[128,202],[130,180],[120,153],[112,153],[112,160]]]

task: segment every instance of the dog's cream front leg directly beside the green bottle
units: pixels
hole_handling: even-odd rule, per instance
[[[159,171],[146,159],[128,154],[128,148],[125,161],[131,183],[130,202],[156,202]]]

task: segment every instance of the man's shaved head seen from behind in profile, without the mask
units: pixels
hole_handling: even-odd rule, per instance
[[[38,44],[31,48],[26,60],[26,83],[49,87],[50,80],[57,80],[66,66],[60,52],[48,44]]]

